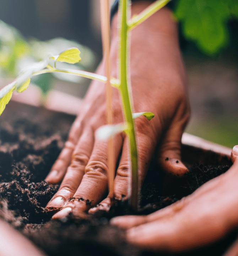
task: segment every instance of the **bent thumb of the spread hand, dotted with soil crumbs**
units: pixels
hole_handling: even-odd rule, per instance
[[[181,138],[189,118],[186,106],[180,106],[169,125],[159,148],[158,162],[170,174],[183,175],[188,171],[181,161]]]

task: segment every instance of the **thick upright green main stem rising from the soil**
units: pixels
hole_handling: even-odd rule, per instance
[[[120,41],[119,41],[119,91],[122,99],[122,107],[124,111],[125,121],[128,123],[127,135],[130,143],[130,158],[131,158],[131,206],[137,209],[138,204],[138,157],[136,147],[136,137],[134,129],[134,121],[131,111],[131,100],[128,91],[128,24],[127,24],[127,0],[119,1],[119,12],[121,19],[120,27]]]

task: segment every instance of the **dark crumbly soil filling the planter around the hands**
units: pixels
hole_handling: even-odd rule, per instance
[[[124,231],[109,225],[112,216],[133,213],[126,201],[116,202],[110,213],[87,220],[50,220],[53,213],[44,207],[58,185],[50,185],[44,178],[63,148],[74,118],[15,102],[7,105],[0,117],[0,217],[47,255],[154,255],[129,245]],[[194,158],[191,153],[191,149],[183,148],[185,162]],[[183,179],[165,178],[153,160],[141,191],[141,208],[134,214],[148,214],[174,203],[231,165],[228,159],[218,159],[215,166],[204,165],[217,160],[217,155],[208,153],[204,159],[198,158],[203,152],[195,152],[203,163],[197,160],[189,165],[190,172]],[[186,255],[222,255],[236,235],[234,232],[222,242]]]

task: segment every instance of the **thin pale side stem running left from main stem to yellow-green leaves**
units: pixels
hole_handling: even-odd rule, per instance
[[[87,72],[87,71],[83,71],[83,70],[59,70],[59,69],[56,69],[56,68],[50,68],[50,69],[44,69],[44,70],[41,70],[41,71],[34,72],[32,74],[32,76],[37,76],[37,75],[41,75],[41,74],[45,74],[45,73],[53,73],[53,72],[60,72],[60,73],[66,73],[66,74],[81,76],[81,77],[89,78],[89,79],[92,79],[92,80],[97,80],[97,81],[103,82],[103,83],[107,82],[107,77],[106,76],[101,76],[101,75],[91,73],[91,72]],[[111,78],[110,84],[113,87],[116,87],[116,88],[119,87],[119,81],[115,78]]]

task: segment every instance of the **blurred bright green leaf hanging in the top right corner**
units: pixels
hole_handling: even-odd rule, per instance
[[[237,14],[237,0],[178,0],[175,7],[185,38],[210,55],[227,45],[227,21]]]

